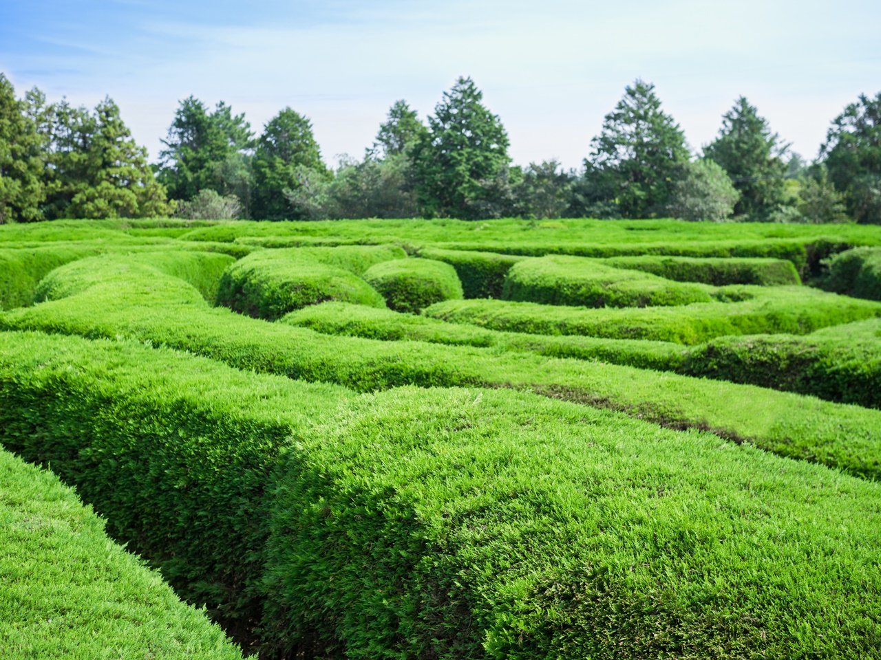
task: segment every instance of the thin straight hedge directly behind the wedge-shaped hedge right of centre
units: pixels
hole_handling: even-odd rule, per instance
[[[784,259],[751,259],[748,257],[667,257],[644,255],[613,257],[603,260],[607,266],[641,270],[677,282],[702,282],[714,286],[757,284],[781,286],[801,284],[792,261]]]

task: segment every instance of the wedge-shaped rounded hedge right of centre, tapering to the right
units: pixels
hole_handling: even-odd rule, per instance
[[[502,298],[587,307],[647,307],[708,303],[713,290],[672,282],[636,270],[610,268],[580,257],[541,257],[516,263],[505,278]]]

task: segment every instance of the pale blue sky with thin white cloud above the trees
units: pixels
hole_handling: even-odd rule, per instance
[[[744,95],[811,160],[845,106],[881,92],[879,26],[877,0],[0,0],[0,72],[19,96],[110,96],[154,161],[190,95],[257,133],[291,106],[333,165],[363,155],[396,99],[425,119],[460,76],[520,165],[580,166],[636,78],[692,150]]]

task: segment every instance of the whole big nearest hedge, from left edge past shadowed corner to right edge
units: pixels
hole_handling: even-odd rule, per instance
[[[878,484],[516,392],[3,339],[4,443],[163,568],[233,562],[266,656],[881,657]]]

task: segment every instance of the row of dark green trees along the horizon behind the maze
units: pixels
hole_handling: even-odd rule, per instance
[[[0,223],[63,217],[265,220],[361,217],[679,217],[881,223],[881,92],[836,117],[806,163],[740,97],[699,154],[636,80],[580,170],[513,165],[507,131],[461,77],[427,121],[391,106],[362,158],[335,169],[285,107],[256,136],[224,102],[180,102],[150,165],[112,99],[93,111],[18,99],[0,74]]]

